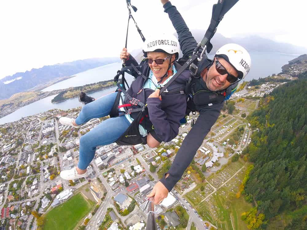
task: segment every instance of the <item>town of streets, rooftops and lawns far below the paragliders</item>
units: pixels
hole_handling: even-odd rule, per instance
[[[230,201],[248,167],[242,151],[257,132],[246,117],[260,97],[283,83],[245,84],[231,97],[181,180],[155,206],[158,229],[239,229]],[[65,181],[60,171],[78,163],[80,137],[108,119],[94,118],[80,129],[59,123],[80,109],[53,109],[0,125],[0,230],[145,229],[146,195],[170,168],[197,114],[157,148],[98,147],[87,178]]]

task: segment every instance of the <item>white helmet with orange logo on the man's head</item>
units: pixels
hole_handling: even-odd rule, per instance
[[[215,56],[225,59],[239,74],[239,79],[245,78],[251,68],[251,56],[238,44],[223,45]]]

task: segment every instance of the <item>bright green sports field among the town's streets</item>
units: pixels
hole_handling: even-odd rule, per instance
[[[84,199],[78,193],[68,201],[55,207],[44,215],[44,230],[71,230],[94,206],[94,202]]]

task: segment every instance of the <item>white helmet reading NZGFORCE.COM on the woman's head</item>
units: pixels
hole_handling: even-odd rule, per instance
[[[144,56],[147,57],[147,52],[154,51],[175,54],[175,60],[177,60],[180,51],[179,41],[173,34],[157,34],[150,36],[143,44]]]

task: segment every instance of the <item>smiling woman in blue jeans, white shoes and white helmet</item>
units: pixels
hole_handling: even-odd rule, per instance
[[[185,116],[186,96],[182,89],[189,79],[189,71],[182,72],[171,84],[172,87],[165,90],[161,96],[159,88],[163,87],[180,68],[176,62],[179,50],[179,42],[173,35],[156,35],[147,39],[143,46],[146,58],[140,63],[139,71],[132,70],[135,80],[126,94],[124,91],[120,94],[108,94],[84,105],[75,120],[68,117],[60,118],[60,123],[79,128],[92,118],[109,115],[114,104],[118,106],[119,113],[124,114],[101,122],[80,138],[78,166],[61,171],[60,176],[63,179],[86,177],[87,166],[94,158],[96,147],[118,142],[127,136],[134,138],[135,135],[123,135],[132,124],[137,124],[138,135],[144,138],[141,142],[147,142],[151,148],[177,136],[180,119]],[[126,66],[138,66],[126,48],[123,48],[120,58],[126,59]],[[119,102],[116,101],[117,98]],[[142,104],[146,106],[142,107]],[[146,112],[143,117],[139,117],[139,113],[129,113],[129,109],[141,107]],[[138,119],[138,123],[133,122],[134,119]]]

